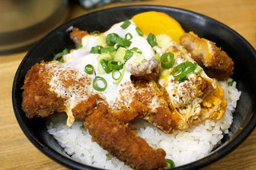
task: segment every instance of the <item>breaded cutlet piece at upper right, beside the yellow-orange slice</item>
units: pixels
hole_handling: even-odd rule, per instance
[[[180,38],[180,44],[191,53],[191,57],[202,66],[209,77],[223,81],[233,75],[234,62],[214,42],[198,38],[198,35],[189,32]]]

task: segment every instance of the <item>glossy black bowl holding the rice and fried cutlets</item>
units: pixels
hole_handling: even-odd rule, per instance
[[[122,6],[96,11],[66,22],[66,24],[46,35],[45,38],[42,38],[26,54],[26,57],[24,57],[19,65],[14,77],[12,93],[14,113],[28,139],[46,156],[68,168],[96,169],[70,159],[66,152],[58,145],[58,142],[46,131],[44,119],[26,118],[21,106],[21,88],[26,72],[37,62],[42,60],[51,61],[54,54],[62,51],[62,49],[74,48],[74,43],[70,40],[67,32],[70,26],[90,32],[94,30],[105,31],[116,22],[124,21],[134,16],[134,14],[149,10],[169,14],[178,20],[186,32],[193,30],[199,37],[210,39],[216,42],[218,46],[221,46],[234,60],[233,78],[238,83],[238,90],[242,91],[242,96],[234,112],[234,122],[230,128],[230,132],[233,135],[224,136],[222,144],[211,152],[209,156],[175,169],[202,168],[207,164],[213,163],[226,156],[234,148],[237,148],[250,135],[250,132],[254,130],[256,124],[256,114],[254,114],[256,112],[256,92],[254,90],[256,86],[256,52],[244,38],[220,22],[188,10],[166,6]]]

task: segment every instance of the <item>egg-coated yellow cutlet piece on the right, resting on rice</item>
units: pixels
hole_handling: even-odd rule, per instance
[[[176,66],[183,64],[186,67],[186,62],[192,65],[194,60],[176,42],[171,42],[166,52],[174,54],[175,62],[170,69],[162,69],[158,83],[173,110],[172,118],[178,125],[177,128],[184,130],[194,123],[222,117],[226,101],[223,89],[217,82],[203,70],[200,73],[189,73],[184,80],[174,78],[172,71]]]

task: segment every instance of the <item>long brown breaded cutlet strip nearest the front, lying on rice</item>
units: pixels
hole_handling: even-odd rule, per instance
[[[110,117],[106,105],[94,109],[86,118],[85,126],[93,140],[132,168],[158,169],[167,165],[166,152],[162,148],[151,148],[146,140],[134,136],[125,124]]]

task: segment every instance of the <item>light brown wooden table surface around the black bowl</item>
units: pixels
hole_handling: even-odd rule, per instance
[[[78,4],[70,4],[67,21],[94,10],[126,5],[164,5],[205,14],[230,26],[246,38],[256,49],[256,1],[255,0],[150,0],[113,2],[93,10],[85,10]],[[66,169],[42,154],[23,134],[14,117],[11,89],[14,74],[27,51],[0,56],[0,164],[2,169]],[[203,169],[256,169],[256,130],[222,160]]]

